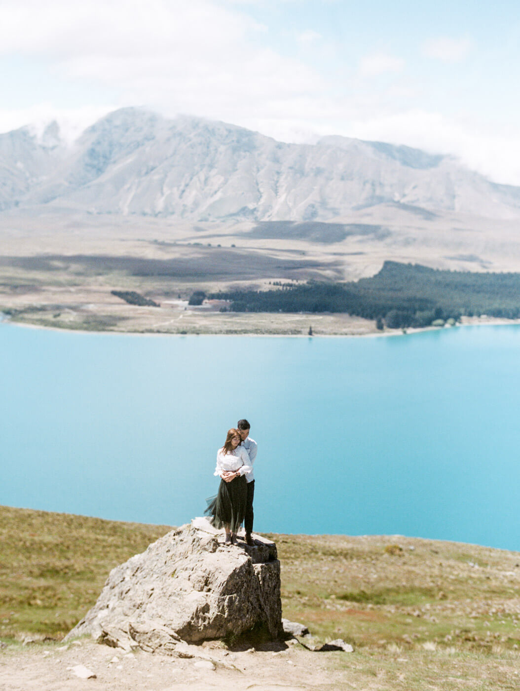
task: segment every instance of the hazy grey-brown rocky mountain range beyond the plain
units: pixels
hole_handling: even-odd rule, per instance
[[[490,218],[520,216],[520,188],[448,156],[325,137],[285,144],[197,117],[110,113],[62,142],[56,123],[0,135],[0,209],[48,205],[92,214],[204,220],[341,219],[384,203]]]

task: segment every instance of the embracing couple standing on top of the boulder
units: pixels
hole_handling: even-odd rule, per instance
[[[238,529],[244,522],[245,540],[249,547],[254,546],[253,537],[253,496],[255,480],[253,462],[256,458],[257,444],[249,437],[250,425],[247,420],[239,420],[228,430],[224,446],[217,453],[217,467],[220,486],[218,494],[208,504],[205,513],[213,516],[215,528],[226,531],[226,545],[235,545]]]

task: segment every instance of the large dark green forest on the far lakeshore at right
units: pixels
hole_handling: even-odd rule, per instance
[[[476,274],[386,261],[371,278],[309,281],[278,290],[220,292],[233,312],[346,312],[407,328],[461,316],[520,317],[520,274]]]

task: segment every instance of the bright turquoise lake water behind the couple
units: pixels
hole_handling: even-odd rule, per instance
[[[182,524],[227,429],[255,529],[520,550],[520,328],[142,337],[0,325],[0,504]]]

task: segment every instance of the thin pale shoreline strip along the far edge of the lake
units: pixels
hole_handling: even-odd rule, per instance
[[[262,313],[263,314],[263,313]],[[269,313],[265,313],[269,314]],[[309,317],[313,315],[309,314]],[[314,315],[315,316],[315,315]],[[443,331],[451,330],[459,327],[468,326],[514,326],[520,325],[520,319],[505,319],[500,317],[468,317],[463,316],[461,323],[457,323],[454,326],[424,326],[421,328],[407,328],[407,329],[385,329],[381,332],[367,332],[367,333],[342,333],[342,334],[320,334],[313,333],[309,334],[291,334],[291,333],[254,333],[254,332],[244,332],[244,333],[204,333],[204,332],[186,332],[186,333],[175,333],[175,332],[153,332],[153,331],[123,331],[123,330],[93,330],[93,329],[81,329],[81,328],[67,328],[59,326],[48,326],[44,324],[35,324],[28,321],[15,321],[10,319],[9,316],[5,316],[0,312],[0,325],[13,325],[21,326],[31,329],[42,329],[46,331],[55,332],[66,332],[66,333],[78,333],[78,334],[99,334],[99,335],[118,335],[118,336],[146,336],[146,337],[257,337],[257,338],[295,338],[295,339],[325,339],[325,338],[378,338],[378,337],[395,337],[395,336],[413,336],[414,334],[419,334],[423,332],[433,332],[433,331]]]

